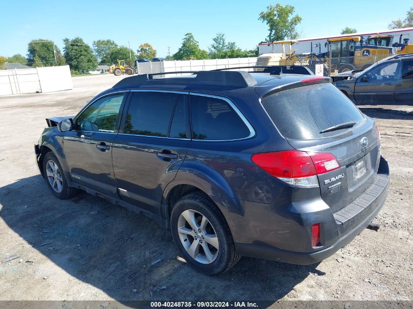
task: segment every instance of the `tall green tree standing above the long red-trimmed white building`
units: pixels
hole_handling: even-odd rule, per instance
[[[281,5],[277,3],[267,6],[265,12],[260,12],[258,20],[265,22],[268,25],[267,42],[282,41],[286,39],[297,39],[299,33],[296,28],[301,23],[302,18],[298,15],[293,15],[295,7],[293,5]]]

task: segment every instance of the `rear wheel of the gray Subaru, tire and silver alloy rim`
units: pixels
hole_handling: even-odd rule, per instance
[[[201,273],[222,273],[241,258],[224,216],[202,192],[190,193],[176,202],[171,212],[171,231],[182,256]]]

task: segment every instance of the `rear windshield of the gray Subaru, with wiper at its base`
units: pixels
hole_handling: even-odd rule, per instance
[[[313,140],[348,131],[320,133],[337,124],[360,123],[362,113],[330,83],[285,90],[262,100],[262,105],[285,138]]]

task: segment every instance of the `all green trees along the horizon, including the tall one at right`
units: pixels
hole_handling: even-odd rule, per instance
[[[286,39],[298,39],[300,33],[297,30],[302,18],[295,14],[292,5],[269,5],[266,11],[261,11],[258,20],[268,25],[268,36],[263,42],[282,41]],[[391,21],[389,29],[413,27],[413,7],[407,12],[404,20]],[[355,28],[346,27],[341,34],[355,33]],[[25,63],[29,66],[52,66],[68,64],[72,73],[95,70],[98,63],[112,64],[119,60],[125,60],[133,65],[135,59],[156,58],[157,52],[150,43],[139,45],[136,53],[124,45],[118,45],[113,40],[93,41],[89,46],[81,38],[63,40],[63,52],[50,40],[30,41],[26,57],[16,54],[6,58],[0,56],[0,69],[5,69],[5,62]],[[165,57],[166,60],[188,60],[188,59],[225,59],[258,56],[258,47],[250,50],[242,50],[234,41],[227,41],[223,33],[217,33],[212,38],[208,50],[201,49],[191,32],[185,34],[181,46],[173,55]]]

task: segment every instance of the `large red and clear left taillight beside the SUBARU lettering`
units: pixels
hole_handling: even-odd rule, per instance
[[[252,162],[290,185],[318,186],[317,175],[340,168],[331,153],[285,150],[256,153]]]

